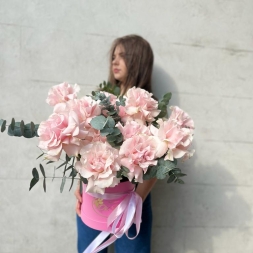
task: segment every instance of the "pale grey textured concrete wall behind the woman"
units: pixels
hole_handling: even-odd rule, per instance
[[[0,118],[46,119],[48,89],[107,78],[114,38],[145,37],[154,93],[196,123],[185,185],[153,190],[153,253],[253,252],[252,0],[0,0]],[[37,139],[0,136],[0,253],[76,252],[75,198],[28,191]],[[49,170],[47,173],[49,173]]]

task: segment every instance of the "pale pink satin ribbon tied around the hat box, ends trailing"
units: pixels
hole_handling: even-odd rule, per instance
[[[95,193],[88,193],[88,194],[90,194],[95,198],[102,198],[102,199],[117,199],[124,195],[125,198],[109,215],[107,219],[108,230],[102,231],[91,242],[91,244],[85,249],[83,253],[97,253],[100,250],[108,247],[110,244],[115,242],[117,238],[122,237],[124,234],[126,234],[126,236],[131,240],[137,237],[140,231],[140,224],[141,224],[142,199],[135,191],[122,194],[115,194],[115,193],[105,193],[103,195]],[[128,236],[128,229],[131,227],[133,223],[136,224],[136,235],[131,238]],[[110,234],[113,235],[106,242],[101,244]]]

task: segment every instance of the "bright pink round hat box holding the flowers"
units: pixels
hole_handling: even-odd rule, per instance
[[[119,194],[119,198],[116,199],[103,199],[101,197],[93,197],[92,194],[83,191],[82,194],[82,206],[81,206],[81,219],[89,227],[107,231],[107,218],[117,205],[124,199],[125,194],[133,191],[135,185],[131,182],[122,182],[115,187],[109,187],[105,189],[105,193],[116,193]],[[83,189],[86,186],[83,185]],[[120,195],[122,194],[122,195]]]

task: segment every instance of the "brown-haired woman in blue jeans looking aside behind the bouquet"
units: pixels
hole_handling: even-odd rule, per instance
[[[153,69],[153,52],[149,43],[138,35],[128,35],[114,41],[111,48],[109,82],[121,88],[121,95],[133,86],[151,92],[151,74]],[[116,240],[116,253],[150,253],[152,210],[150,191],[156,179],[145,180],[138,184],[136,193],[143,200],[141,229],[134,240],[126,235]],[[96,238],[100,231],[86,226],[80,218],[82,197],[79,189],[75,191],[77,198],[76,212],[78,232],[78,252],[85,248]],[[135,236],[135,224],[129,229],[129,236]],[[106,253],[107,249],[100,251]]]

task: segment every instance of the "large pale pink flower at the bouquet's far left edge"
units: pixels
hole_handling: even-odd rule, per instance
[[[39,148],[47,151],[48,160],[57,161],[62,149],[68,156],[77,156],[80,140],[78,118],[74,112],[52,114],[48,120],[42,121],[38,129]]]

